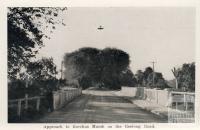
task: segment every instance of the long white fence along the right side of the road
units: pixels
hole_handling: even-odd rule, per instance
[[[122,87],[121,93],[125,96],[136,97],[157,103],[165,107],[174,107],[179,110],[189,110],[190,107],[194,108],[195,94],[189,92],[174,92],[169,90],[148,89],[145,87]],[[175,103],[175,105],[173,105]],[[180,106],[180,103],[183,106]]]

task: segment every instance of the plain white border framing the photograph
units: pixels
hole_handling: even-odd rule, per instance
[[[194,124],[153,123],[158,128],[200,128],[200,0],[12,0],[0,1],[0,129],[43,129],[45,124],[7,123],[7,7],[195,7],[196,8],[196,122]],[[65,125],[64,123],[60,123]],[[128,123],[126,123],[128,124]],[[137,124],[137,123],[134,123]],[[46,124],[48,125],[48,124]],[[49,125],[53,125],[52,123]],[[56,124],[54,124],[56,125]],[[72,125],[72,124],[71,124]],[[105,126],[108,125],[107,123]],[[141,125],[141,124],[140,124]]]

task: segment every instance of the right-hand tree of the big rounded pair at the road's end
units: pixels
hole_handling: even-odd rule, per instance
[[[105,48],[100,57],[100,81],[111,89],[119,89],[120,74],[129,67],[129,55],[116,48]]]

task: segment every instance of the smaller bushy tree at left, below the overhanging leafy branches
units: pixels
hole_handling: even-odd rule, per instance
[[[24,73],[20,74],[20,79],[27,83],[25,87],[29,96],[35,96],[43,93],[43,95],[58,89],[58,80],[56,74],[56,65],[53,58],[42,58],[40,60],[30,62]],[[27,79],[28,77],[28,79]]]

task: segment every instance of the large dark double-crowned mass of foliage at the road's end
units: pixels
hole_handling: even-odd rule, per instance
[[[129,66],[129,55],[116,48],[81,48],[64,57],[65,78],[84,88],[95,84],[120,88],[122,72]],[[130,71],[130,70],[129,70]]]

